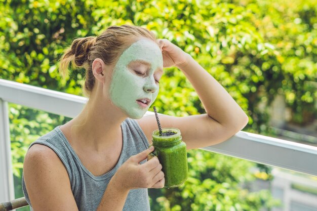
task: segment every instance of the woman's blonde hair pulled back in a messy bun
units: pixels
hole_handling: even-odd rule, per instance
[[[92,71],[93,61],[100,58],[107,65],[114,64],[123,51],[140,37],[153,41],[156,39],[155,35],[146,28],[131,25],[110,26],[96,37],[76,38],[60,59],[59,71],[65,77],[69,74],[70,64],[72,69],[85,68],[83,92],[89,97],[95,84]]]

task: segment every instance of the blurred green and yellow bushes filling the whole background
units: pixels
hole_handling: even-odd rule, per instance
[[[269,125],[276,96],[285,99],[287,123],[305,126],[316,121],[316,5],[316,0],[0,0],[0,78],[82,95],[83,70],[66,79],[58,73],[63,50],[74,38],[97,35],[110,25],[139,25],[189,53],[225,87],[249,115],[244,131],[275,136]],[[205,113],[177,68],[165,69],[160,87],[153,104],[158,112]],[[16,197],[23,196],[28,145],[68,120],[10,104]],[[272,178],[267,166],[203,150],[189,150],[188,163],[185,185],[149,190],[152,210],[251,211],[279,206],[268,190],[247,188],[254,180]]]

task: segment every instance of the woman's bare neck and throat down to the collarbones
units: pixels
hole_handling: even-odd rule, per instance
[[[122,141],[121,124],[126,118],[110,101],[89,99],[84,110],[68,122],[71,142],[101,152]]]

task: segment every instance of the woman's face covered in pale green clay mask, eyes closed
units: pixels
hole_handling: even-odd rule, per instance
[[[112,103],[130,118],[141,118],[159,94],[162,52],[154,41],[141,39],[126,49],[114,66],[110,85]],[[145,104],[144,102],[146,100]]]

